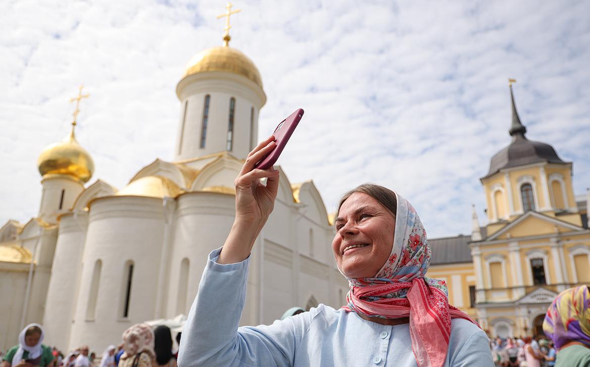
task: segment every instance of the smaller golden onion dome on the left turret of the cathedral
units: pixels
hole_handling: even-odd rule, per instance
[[[41,176],[70,175],[81,182],[87,182],[94,172],[94,162],[86,149],[76,141],[74,129],[61,142],[43,149],[37,166]]]

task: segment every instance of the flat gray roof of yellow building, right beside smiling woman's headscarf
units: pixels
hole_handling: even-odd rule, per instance
[[[483,232],[481,234],[484,235]],[[432,251],[430,265],[473,262],[469,242],[471,236],[464,235],[428,239]]]

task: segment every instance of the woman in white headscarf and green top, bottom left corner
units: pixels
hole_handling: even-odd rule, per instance
[[[53,367],[51,348],[42,344],[45,337],[38,323],[27,325],[18,335],[18,345],[6,351],[2,367]]]

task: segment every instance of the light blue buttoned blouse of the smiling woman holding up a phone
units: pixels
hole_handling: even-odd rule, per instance
[[[182,332],[179,367],[416,367],[408,324],[387,326],[319,305],[272,325],[238,328],[250,258],[221,265],[209,254]],[[493,367],[486,333],[453,319],[445,366]]]

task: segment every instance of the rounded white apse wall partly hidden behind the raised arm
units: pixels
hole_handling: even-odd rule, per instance
[[[171,265],[169,266],[169,294],[167,316],[175,316],[178,309],[178,291],[181,285],[181,263],[189,261],[189,279],[186,284],[186,308],[188,313],[198,291],[201,275],[207,265],[208,255],[223,246],[234,223],[235,197],[214,192],[184,193],[176,199]],[[184,296],[180,297],[180,299]]]

